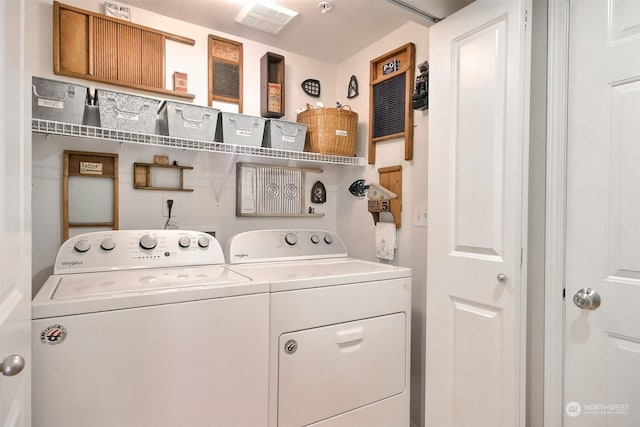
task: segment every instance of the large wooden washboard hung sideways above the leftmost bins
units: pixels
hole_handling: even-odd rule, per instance
[[[53,2],[53,72],[165,95],[165,43],[195,40]]]

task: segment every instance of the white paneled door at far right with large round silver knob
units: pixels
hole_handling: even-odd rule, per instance
[[[569,4],[564,425],[637,427],[640,2]]]

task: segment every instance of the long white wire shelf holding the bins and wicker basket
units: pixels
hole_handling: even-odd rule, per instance
[[[74,136],[79,138],[101,139],[111,142],[158,145],[162,147],[210,151],[212,153],[237,154],[241,156],[269,157],[273,159],[298,160],[303,162],[330,163],[348,166],[364,166],[365,164],[365,159],[362,157],[332,156],[327,154],[309,153],[306,151],[278,150],[274,148],[225,144],[222,142],[199,141],[42,119],[31,119],[31,130],[45,135]]]

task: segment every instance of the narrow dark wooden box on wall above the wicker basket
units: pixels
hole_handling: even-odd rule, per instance
[[[260,115],[284,116],[284,56],[267,52],[260,59]]]

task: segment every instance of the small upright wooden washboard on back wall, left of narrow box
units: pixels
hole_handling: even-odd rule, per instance
[[[209,34],[208,41],[208,66],[209,66],[209,90],[208,105],[213,101],[228,102],[238,105],[238,113],[242,113],[242,43]],[[215,68],[222,68],[222,75],[216,74]],[[237,71],[237,81],[233,74]],[[224,85],[237,85],[236,88],[216,87],[215,81],[223,80]],[[223,90],[221,90],[223,89]]]

